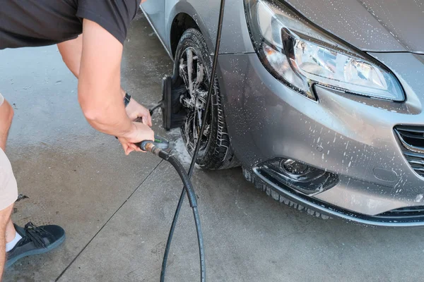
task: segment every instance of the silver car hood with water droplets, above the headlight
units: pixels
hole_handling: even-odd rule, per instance
[[[363,51],[424,54],[424,0],[287,0],[313,23]]]

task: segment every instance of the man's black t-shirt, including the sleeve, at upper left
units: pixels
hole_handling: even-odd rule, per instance
[[[0,0],[0,49],[57,44],[93,20],[124,44],[140,0]]]

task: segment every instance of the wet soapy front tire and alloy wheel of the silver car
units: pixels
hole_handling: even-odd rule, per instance
[[[188,90],[187,97],[182,97],[181,100],[188,113],[181,133],[190,155],[193,155],[196,141],[199,139],[201,119],[206,107],[213,63],[210,54],[204,36],[194,28],[184,32],[175,52],[175,69],[179,70],[179,77],[184,80]],[[189,71],[190,69],[192,71]],[[201,149],[196,164],[207,169],[240,166],[230,144],[217,79],[214,85],[206,130],[201,136]]]

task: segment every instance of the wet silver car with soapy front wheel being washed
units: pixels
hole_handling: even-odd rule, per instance
[[[181,132],[202,168],[242,166],[273,199],[323,219],[424,225],[424,2],[227,0],[143,13],[188,94]]]

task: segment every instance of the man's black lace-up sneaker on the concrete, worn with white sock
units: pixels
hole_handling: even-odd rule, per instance
[[[22,236],[22,239],[12,250],[7,252],[6,268],[23,257],[49,252],[65,240],[64,229],[57,225],[37,227],[29,222],[25,225],[25,228],[15,225],[15,229]]]

